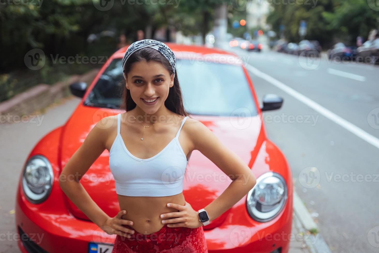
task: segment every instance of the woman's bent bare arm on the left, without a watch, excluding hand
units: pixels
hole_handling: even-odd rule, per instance
[[[105,117],[97,122],[83,144],[71,156],[59,176],[59,185],[62,191],[75,206],[98,226],[102,226],[109,216],[88,195],[80,183],[80,179],[103,153],[106,133],[114,122],[111,117]]]

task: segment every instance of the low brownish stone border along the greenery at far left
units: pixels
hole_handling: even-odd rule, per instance
[[[53,103],[56,99],[70,96],[69,85],[84,81],[88,84],[96,77],[99,69],[92,69],[83,75],[71,75],[55,84],[37,84],[25,92],[0,103],[0,115],[28,115]]]

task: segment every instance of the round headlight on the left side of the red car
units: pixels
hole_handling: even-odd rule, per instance
[[[25,164],[22,189],[31,203],[41,203],[50,194],[53,185],[53,169],[42,155],[32,156]]]

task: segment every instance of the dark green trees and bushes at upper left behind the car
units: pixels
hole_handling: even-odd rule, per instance
[[[100,0],[99,0],[100,1]],[[93,0],[6,0],[0,5],[0,102],[29,87],[53,84],[67,75],[83,73],[99,64],[60,64],[57,57],[110,56],[117,50],[119,36],[135,41],[137,30],[152,32],[168,26],[185,35],[205,37],[213,25],[217,6],[227,0],[150,1],[114,0],[112,8],[100,11]],[[88,42],[90,34],[113,31]],[[31,49],[45,54],[39,70],[27,68],[24,57]],[[4,74],[1,74],[4,73]]]

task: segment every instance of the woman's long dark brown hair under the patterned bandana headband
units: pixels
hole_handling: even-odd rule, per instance
[[[164,57],[157,50],[147,47],[137,50],[136,52],[132,53],[132,55],[130,55],[130,57],[127,59],[124,65],[125,74],[127,75],[130,72],[130,69],[132,68],[134,62],[142,60],[146,60],[147,62],[160,62],[170,72],[170,74],[174,73],[172,71],[171,64],[166,59],[166,57]],[[123,109],[125,109],[126,111],[130,111],[136,107],[136,103],[133,101],[132,96],[130,95],[130,90],[126,88],[125,84],[126,81],[124,80],[124,90],[122,91],[122,98],[123,105],[125,107]],[[188,112],[184,109],[183,106],[182,91],[180,90],[178,73],[176,72],[176,69],[174,77],[174,86],[172,86],[169,89],[169,94],[166,101],[164,101],[164,105],[167,109],[169,109],[172,112],[175,112],[176,114],[182,116],[189,116]]]

